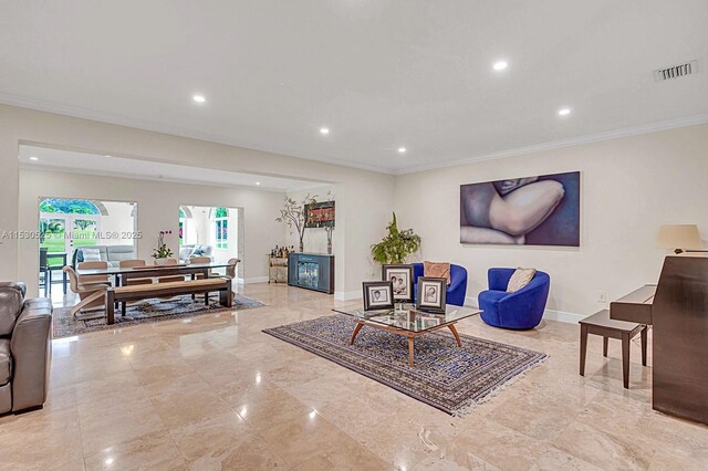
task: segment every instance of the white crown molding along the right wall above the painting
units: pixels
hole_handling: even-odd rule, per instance
[[[416,174],[418,171],[436,170],[439,168],[458,167],[458,166],[475,164],[475,163],[485,161],[485,160],[496,160],[496,159],[502,159],[502,158],[509,158],[509,157],[517,157],[524,154],[533,154],[533,153],[539,153],[543,150],[553,150],[553,149],[560,149],[564,147],[580,146],[582,144],[600,143],[603,140],[617,139],[621,137],[636,136],[639,134],[648,134],[648,133],[655,133],[658,130],[675,129],[679,127],[694,126],[697,124],[706,124],[706,123],[708,123],[708,114],[688,116],[688,117],[669,119],[669,121],[664,121],[658,123],[643,124],[641,126],[625,127],[622,129],[608,130],[605,133],[589,134],[585,136],[571,137],[568,139],[561,139],[561,140],[553,140],[550,143],[533,144],[530,146],[517,147],[513,149],[500,150],[497,153],[480,154],[475,157],[467,157],[467,158],[456,159],[456,160],[450,160],[445,163],[413,166],[413,167],[408,167],[408,168],[395,171],[394,175],[408,175],[408,174]]]

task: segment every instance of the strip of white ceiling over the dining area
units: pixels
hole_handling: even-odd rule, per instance
[[[32,160],[35,157],[37,160]],[[322,182],[294,180],[236,171],[215,170],[115,156],[20,146],[20,165],[27,168],[64,170],[88,175],[137,178],[143,180],[250,188],[254,190],[298,191]],[[260,185],[257,185],[260,184]]]

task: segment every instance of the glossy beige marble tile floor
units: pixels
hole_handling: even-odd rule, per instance
[[[577,325],[466,320],[550,358],[455,418],[261,332],[332,296],[243,294],[268,306],[53,341],[44,409],[0,418],[0,469],[708,469],[708,427],[652,410],[638,341],[625,390],[618,342],[605,359],[591,336],[581,377]]]

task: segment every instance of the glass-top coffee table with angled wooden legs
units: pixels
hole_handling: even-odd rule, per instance
[[[335,307],[332,311],[346,314],[356,318],[356,327],[352,333],[350,345],[354,345],[356,335],[363,326],[369,326],[382,331],[391,332],[392,334],[402,335],[408,338],[408,365],[414,365],[414,339],[420,335],[437,331],[439,328],[449,328],[457,341],[457,346],[461,346],[460,336],[455,328],[455,324],[467,317],[480,314],[481,311],[448,305],[445,308],[445,313],[430,313],[426,311],[419,311],[413,304],[397,305],[393,310],[383,311],[364,311],[363,308],[340,308]]]

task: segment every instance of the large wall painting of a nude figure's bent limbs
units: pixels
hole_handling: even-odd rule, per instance
[[[461,185],[460,242],[580,247],[580,171]]]

